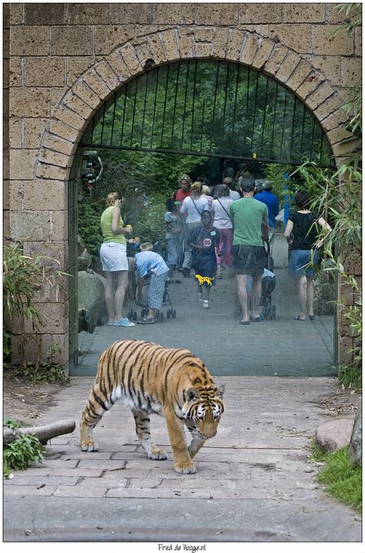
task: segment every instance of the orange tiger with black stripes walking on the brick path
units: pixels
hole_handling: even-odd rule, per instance
[[[80,422],[82,451],[97,451],[93,429],[121,399],[131,408],[135,433],[154,460],[167,453],[151,442],[149,415],[165,416],[178,474],[194,474],[192,459],[205,440],[216,435],[224,411],[225,386],[215,386],[205,364],[184,348],[165,348],[151,341],[126,339],[111,344],[100,356],[97,375]],[[185,426],[191,433],[189,447]]]

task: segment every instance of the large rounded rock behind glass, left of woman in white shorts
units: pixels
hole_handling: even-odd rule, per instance
[[[103,277],[93,272],[79,271],[79,332],[94,332],[104,323],[106,315]]]

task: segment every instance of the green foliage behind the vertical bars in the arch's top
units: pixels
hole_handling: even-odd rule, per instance
[[[120,89],[88,133],[96,147],[298,162],[328,162],[330,155],[321,127],[293,93],[259,71],[222,60],[187,60],[143,73]],[[149,167],[142,180],[148,174]]]

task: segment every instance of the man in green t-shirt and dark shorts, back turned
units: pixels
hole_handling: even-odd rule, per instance
[[[246,288],[248,274],[252,276],[251,320],[260,321],[261,279],[266,265],[263,241],[268,239],[268,207],[254,199],[254,178],[250,174],[241,176],[239,187],[243,198],[230,206],[234,226],[232,267],[236,271],[237,294],[242,309],[240,324],[247,325],[250,324]]]

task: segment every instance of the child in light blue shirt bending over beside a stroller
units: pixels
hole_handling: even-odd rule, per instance
[[[153,252],[153,245],[144,242],[140,245],[140,253],[135,254],[135,269],[138,273],[137,291],[135,299],[140,300],[142,287],[149,281],[148,291],[148,315],[137,324],[155,324],[156,312],[162,309],[162,302],[165,292],[165,283],[169,274],[169,267],[160,254]]]

